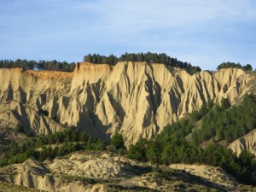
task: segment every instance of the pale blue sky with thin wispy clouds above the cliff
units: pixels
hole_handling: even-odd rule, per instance
[[[0,0],[0,60],[166,53],[256,68],[255,0]]]

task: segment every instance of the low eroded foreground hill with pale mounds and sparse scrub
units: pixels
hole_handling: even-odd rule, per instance
[[[44,163],[29,159],[0,172],[2,181],[49,192],[253,191],[218,167],[153,166],[106,152],[75,152]]]

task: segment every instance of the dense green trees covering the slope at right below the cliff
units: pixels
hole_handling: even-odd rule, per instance
[[[128,157],[135,160],[149,160],[153,163],[166,165],[172,163],[200,163],[220,166],[242,183],[255,185],[256,161],[253,154],[248,151],[242,151],[240,156],[237,157],[230,148],[224,148],[218,145],[218,143],[212,143],[209,144],[207,148],[201,148],[202,140],[197,141],[195,140],[197,138],[194,137],[194,141],[189,141],[189,139],[186,138],[191,134],[197,120],[204,119],[206,115],[209,115],[209,113],[212,112],[212,110],[217,110],[215,108],[218,108],[218,112],[223,111],[223,113],[229,114],[236,113],[236,115],[231,114],[232,116],[229,120],[226,120],[228,114],[222,119],[221,115],[223,115],[223,113],[214,113],[207,117],[207,119],[211,118],[212,123],[215,123],[215,121],[218,121],[218,118],[220,118],[220,121],[225,123],[225,129],[230,133],[232,131],[239,132],[236,131],[236,129],[243,130],[244,122],[247,120],[249,121],[249,124],[253,122],[255,125],[255,111],[253,111],[256,106],[255,97],[256,96],[253,95],[246,96],[241,106],[232,107],[236,109],[230,108],[230,105],[226,100],[223,100],[222,106],[217,107],[212,106],[212,102],[207,103],[201,110],[199,110],[199,112],[192,114],[186,119],[179,120],[177,123],[167,125],[159,135],[154,137],[154,139],[149,141],[141,139],[135,145],[131,145],[128,151]],[[250,107],[247,108],[246,106]],[[238,111],[236,111],[238,108],[247,108],[248,110],[251,110],[251,112],[246,112],[245,109],[241,109],[238,114]],[[232,112],[232,110],[235,110],[236,112]],[[212,117],[212,115],[215,115],[216,118]],[[241,124],[240,121],[242,121]],[[205,129],[207,128],[205,127],[205,123],[203,123],[199,131],[204,132]],[[222,131],[225,132],[225,129]],[[247,131],[249,130],[245,129],[242,134],[245,134]],[[212,134],[212,137],[215,135],[216,134]],[[237,137],[239,137],[239,134]],[[236,137],[233,137],[233,139],[235,138]]]

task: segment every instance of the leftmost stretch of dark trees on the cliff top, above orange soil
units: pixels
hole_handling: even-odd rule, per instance
[[[75,68],[75,63],[67,63],[67,61],[27,61],[17,59],[12,60],[0,60],[0,68],[13,68],[22,67],[25,69],[37,69],[37,70],[49,70],[49,71],[63,71],[72,72]]]

